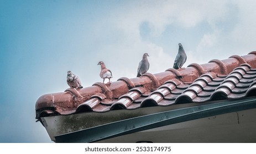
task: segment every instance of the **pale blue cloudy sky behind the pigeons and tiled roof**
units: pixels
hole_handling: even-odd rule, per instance
[[[0,0],[0,142],[52,142],[35,122],[35,102],[64,92],[66,74],[83,87],[135,78],[143,53],[149,73],[173,67],[181,43],[183,67],[256,50],[256,2]]]

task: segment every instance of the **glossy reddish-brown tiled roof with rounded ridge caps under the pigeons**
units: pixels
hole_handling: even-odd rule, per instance
[[[81,112],[108,112],[180,103],[239,100],[256,96],[256,51],[179,70],[120,78],[82,89],[45,94],[35,104],[36,119]]]

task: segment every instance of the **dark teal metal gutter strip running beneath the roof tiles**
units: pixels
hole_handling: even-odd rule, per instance
[[[255,97],[149,114],[147,116],[121,120],[98,127],[58,135],[55,136],[55,139],[56,142],[96,142],[138,131],[163,127],[165,125],[252,108],[256,108]]]

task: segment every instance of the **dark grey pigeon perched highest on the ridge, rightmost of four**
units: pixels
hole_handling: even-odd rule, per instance
[[[181,43],[179,43],[179,51],[175,58],[173,68],[175,68],[175,69],[181,68],[182,65],[186,62],[186,60],[187,60],[187,56],[184,51],[184,48],[182,47]]]

